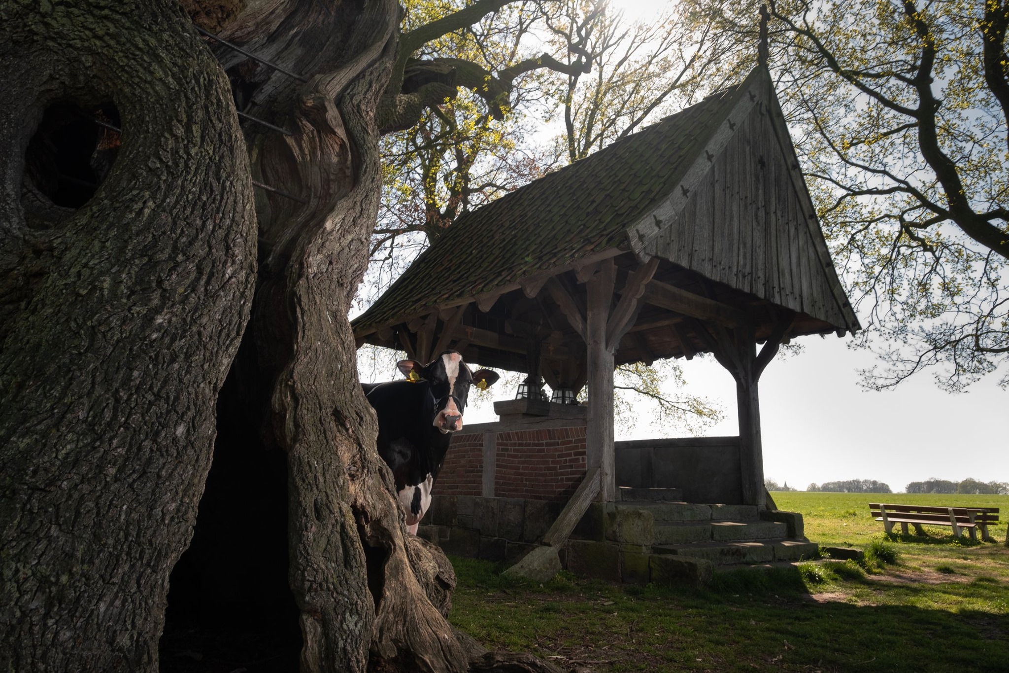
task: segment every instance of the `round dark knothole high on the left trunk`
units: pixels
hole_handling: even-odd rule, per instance
[[[119,111],[111,103],[53,103],[28,141],[25,178],[55,205],[80,208],[116,160],[120,133],[110,127],[120,128]]]

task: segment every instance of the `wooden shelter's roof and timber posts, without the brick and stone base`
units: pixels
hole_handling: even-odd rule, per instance
[[[859,323],[758,68],[460,217],[353,329],[422,361],[455,348],[532,384],[587,383],[607,501],[614,365],[711,352],[737,381],[743,501],[762,506],[761,372],[781,343]]]

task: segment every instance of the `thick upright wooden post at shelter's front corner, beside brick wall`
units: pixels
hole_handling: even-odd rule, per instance
[[[585,427],[585,458],[589,468],[598,467],[603,501],[616,499],[613,455],[613,353],[606,348],[606,324],[613,299],[615,267],[612,260],[599,263],[588,278],[588,310],[585,343],[588,359],[588,418]]]

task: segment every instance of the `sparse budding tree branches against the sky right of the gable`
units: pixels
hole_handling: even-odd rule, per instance
[[[866,381],[929,368],[961,390],[1009,362],[1009,8],[786,0],[771,15],[779,95],[861,345],[883,361]]]

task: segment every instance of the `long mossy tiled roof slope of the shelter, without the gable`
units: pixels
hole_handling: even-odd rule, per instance
[[[626,245],[626,227],[680,183],[751,78],[459,217],[355,334]]]

